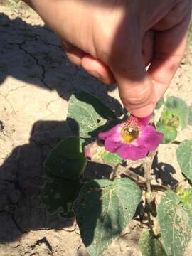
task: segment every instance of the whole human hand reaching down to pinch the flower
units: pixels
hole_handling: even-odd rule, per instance
[[[131,114],[153,112],[183,58],[191,0],[25,1],[58,33],[70,61],[117,82]]]

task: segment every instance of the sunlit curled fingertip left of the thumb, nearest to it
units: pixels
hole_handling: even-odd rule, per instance
[[[100,82],[105,83],[105,85],[114,84],[114,75],[110,68],[107,67],[101,60],[92,57],[89,54],[86,54],[82,58],[82,68],[85,68],[90,75],[93,75],[95,78],[100,80]]]

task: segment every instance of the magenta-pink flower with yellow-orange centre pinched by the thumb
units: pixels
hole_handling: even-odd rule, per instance
[[[122,159],[138,160],[153,151],[164,134],[148,125],[150,117],[130,116],[127,122],[115,125],[107,132],[100,132],[99,139],[105,142],[105,149],[118,153]]]

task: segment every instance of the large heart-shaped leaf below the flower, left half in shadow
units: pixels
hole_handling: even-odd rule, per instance
[[[140,188],[128,178],[86,183],[74,203],[82,241],[91,256],[100,256],[122,232],[141,201]]]

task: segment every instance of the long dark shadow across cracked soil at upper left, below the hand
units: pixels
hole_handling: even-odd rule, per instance
[[[82,68],[68,61],[60,40],[46,26],[32,26],[21,18],[0,14],[0,86],[11,76],[43,90],[55,90],[64,100],[73,91],[84,90],[102,97],[113,110],[119,102],[107,97],[107,87]],[[90,86],[93,85],[93,86]]]

